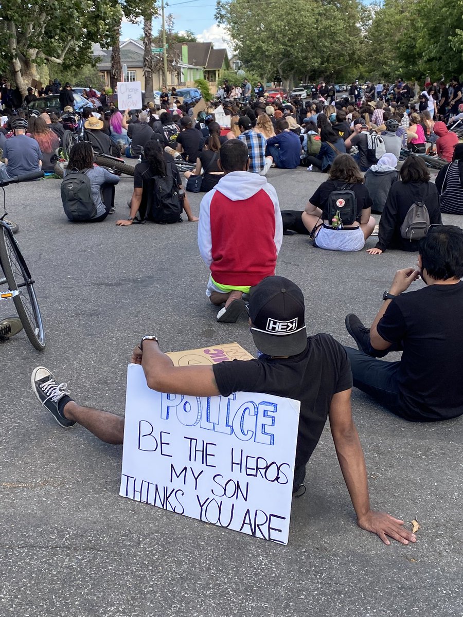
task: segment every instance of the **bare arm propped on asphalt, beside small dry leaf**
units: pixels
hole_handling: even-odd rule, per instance
[[[375,512],[370,508],[364,453],[352,420],[351,389],[337,392],[333,396],[329,416],[336,455],[356,511],[359,527],[377,534],[385,544],[391,544],[388,536],[402,544],[415,542],[415,535],[404,529],[404,521],[393,518],[386,512]]]

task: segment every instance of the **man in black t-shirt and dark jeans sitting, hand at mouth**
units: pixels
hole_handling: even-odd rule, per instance
[[[359,348],[346,351],[354,386],[390,412],[414,422],[448,420],[463,414],[463,231],[431,226],[418,264],[398,270],[371,328],[346,317]],[[427,286],[404,294],[420,276]],[[375,359],[399,350],[399,362]]]

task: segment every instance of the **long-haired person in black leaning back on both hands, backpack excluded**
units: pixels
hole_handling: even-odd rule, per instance
[[[168,174],[172,174],[173,178],[175,178],[181,195],[182,207],[183,210],[185,210],[188,220],[191,222],[197,221],[198,218],[194,217],[191,212],[188,197],[183,193],[177,165],[175,165],[173,157],[162,150],[162,146],[157,139],[150,139],[148,141],[144,147],[143,159],[143,162],[135,165],[133,193],[130,200],[130,215],[127,219],[116,221],[116,225],[131,225],[134,221],[137,223],[144,222],[149,209],[152,180],[155,176],[165,178]],[[179,222],[180,221],[181,217],[179,218]]]

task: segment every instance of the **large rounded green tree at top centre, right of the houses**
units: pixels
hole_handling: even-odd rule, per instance
[[[293,0],[283,19],[280,2],[217,2],[216,19],[227,28],[244,67],[262,80],[278,73],[286,83],[318,77],[334,80],[359,64],[362,11],[357,0]]]

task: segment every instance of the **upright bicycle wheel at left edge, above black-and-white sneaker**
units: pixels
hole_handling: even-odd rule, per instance
[[[2,225],[0,228],[0,262],[10,291],[19,291],[13,302],[32,346],[38,351],[45,348],[45,331],[35,294],[34,283],[25,265],[16,241]],[[20,286],[25,283],[25,286]]]

